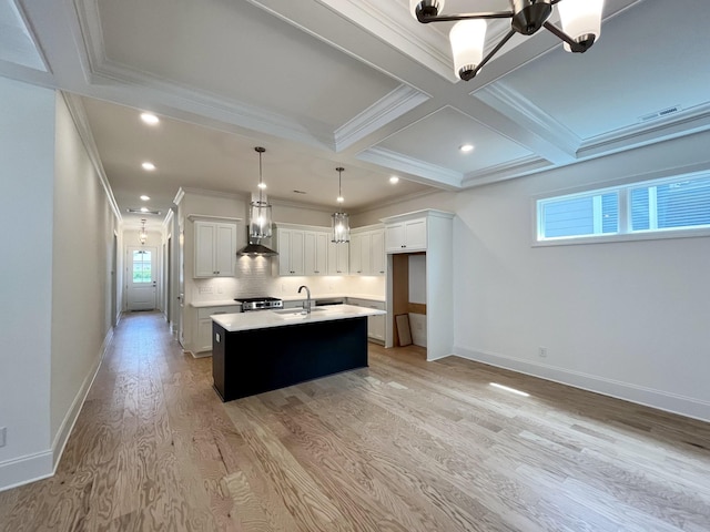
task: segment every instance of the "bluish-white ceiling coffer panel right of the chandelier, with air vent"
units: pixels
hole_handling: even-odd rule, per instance
[[[652,127],[657,120],[710,103],[710,69],[702,68],[709,25],[706,0],[689,0],[682,9],[645,1],[641,9],[607,20],[599,43],[584,55],[548,53],[494,86],[517,94],[534,106],[531,112],[549,116],[550,124],[582,142],[643,123]]]

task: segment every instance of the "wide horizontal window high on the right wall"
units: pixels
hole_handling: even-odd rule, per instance
[[[710,229],[709,175],[656,180],[537,201],[538,242],[605,236],[619,239],[678,229]]]

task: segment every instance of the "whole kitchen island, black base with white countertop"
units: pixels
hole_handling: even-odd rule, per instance
[[[212,376],[223,401],[367,367],[367,316],[334,305],[212,316]]]

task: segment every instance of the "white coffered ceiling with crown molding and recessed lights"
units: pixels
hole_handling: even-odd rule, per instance
[[[126,223],[140,194],[166,213],[181,186],[255,192],[256,145],[272,198],[333,206],[343,165],[357,211],[707,130],[710,10],[678,7],[607,0],[587,53],[516,35],[465,83],[447,24],[419,24],[408,0],[0,0],[0,75],[82,96],[71,101]],[[491,24],[487,47],[507,29]]]

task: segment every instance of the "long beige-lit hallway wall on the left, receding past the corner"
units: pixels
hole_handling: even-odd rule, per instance
[[[111,330],[116,221],[60,93],[55,146],[51,437],[58,459]]]

